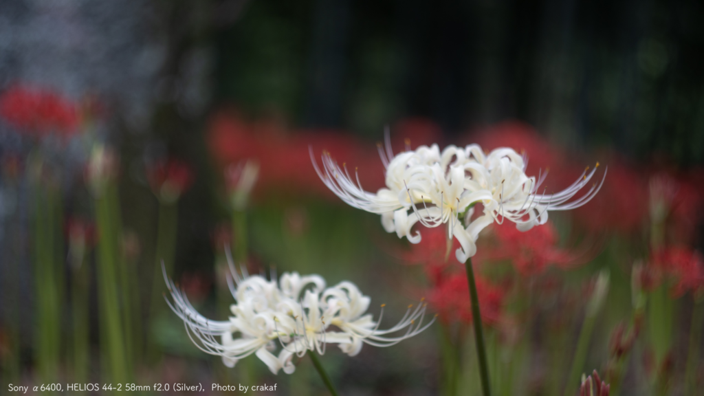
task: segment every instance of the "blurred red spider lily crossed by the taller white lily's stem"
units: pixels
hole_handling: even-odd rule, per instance
[[[493,326],[501,318],[505,291],[503,288],[492,285],[481,276],[475,278],[479,309],[482,312],[482,322]],[[428,303],[438,313],[444,323],[472,322],[472,306],[470,304],[470,288],[467,276],[463,273],[453,273],[451,276],[440,280],[429,291]]]

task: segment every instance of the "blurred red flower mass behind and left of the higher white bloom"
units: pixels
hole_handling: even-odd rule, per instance
[[[398,152],[406,144],[431,144],[439,128],[426,120],[403,120],[394,125],[391,146]],[[379,140],[383,133],[379,131]],[[372,142],[363,142],[338,130],[288,130],[273,121],[248,122],[234,111],[220,111],[210,120],[210,151],[222,168],[246,159],[258,162],[259,178],[255,195],[276,190],[279,194],[310,194],[334,197],[315,173],[310,150],[320,161],[323,150],[346,161],[348,170],[357,171],[367,191],[384,185],[384,167]],[[336,200],[338,202],[338,200]]]

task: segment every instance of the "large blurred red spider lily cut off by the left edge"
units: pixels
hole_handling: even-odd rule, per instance
[[[77,106],[56,93],[15,85],[0,97],[0,116],[20,131],[70,135],[79,124]]]

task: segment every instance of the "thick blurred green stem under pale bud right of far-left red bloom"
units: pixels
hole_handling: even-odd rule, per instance
[[[100,327],[103,367],[108,371],[109,380],[123,382],[127,379],[127,361],[125,359],[125,338],[122,334],[122,315],[120,314],[120,296],[118,293],[118,273],[115,259],[118,256],[116,236],[112,224],[110,201],[103,192],[96,198],[96,223],[99,242],[97,246],[98,262],[96,278],[98,279]]]

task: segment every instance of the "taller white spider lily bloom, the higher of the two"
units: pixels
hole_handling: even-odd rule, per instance
[[[442,152],[437,144],[420,146],[396,156],[387,137],[386,150],[379,146],[386,168],[386,187],[376,194],[363,189],[358,175],[339,166],[329,153],[322,155],[322,169],[313,157],[313,166],[332,192],[347,204],[382,216],[382,225],[411,243],[420,242],[420,232],[411,232],[415,223],[426,227],[448,224],[448,237],[460,242],[455,256],[464,262],[477,252],[475,242],[487,225],[504,219],[527,231],[548,221],[548,211],[574,209],[589,202],[603,184],[570,201],[590,184],[599,164],[561,192],[539,194],[546,173],[528,177],[527,159],[515,150],[501,147],[485,154],[477,144],[448,146]],[[606,173],[604,173],[604,178]],[[470,222],[474,204],[481,203],[484,213]],[[467,224],[468,223],[468,224]]]

